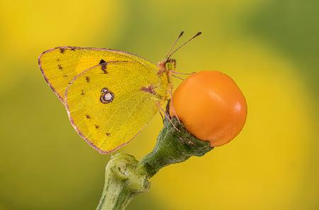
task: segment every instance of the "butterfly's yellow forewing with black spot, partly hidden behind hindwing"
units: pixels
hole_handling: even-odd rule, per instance
[[[64,104],[65,90],[77,74],[89,67],[99,65],[100,62],[114,60],[137,61],[141,64],[152,65],[152,63],[142,57],[128,52],[103,48],[74,47],[59,47],[47,50],[40,55],[38,62],[47,84],[50,85],[51,89]],[[152,65],[152,69],[154,68],[155,65]]]

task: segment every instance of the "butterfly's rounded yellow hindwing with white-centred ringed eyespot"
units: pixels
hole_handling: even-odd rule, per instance
[[[133,139],[157,113],[156,104],[166,99],[167,79],[156,72],[152,65],[120,60],[74,77],[65,105],[79,135],[100,153],[111,153]]]

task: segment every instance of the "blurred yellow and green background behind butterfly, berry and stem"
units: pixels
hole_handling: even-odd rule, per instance
[[[0,209],[95,209],[103,189],[110,155],[69,124],[41,52],[113,48],[157,62],[180,31],[203,35],[177,52],[178,70],[233,77],[247,123],[232,143],[161,170],[128,209],[319,209],[318,23],[318,0],[1,0]],[[119,152],[140,159],[161,128],[155,116]]]

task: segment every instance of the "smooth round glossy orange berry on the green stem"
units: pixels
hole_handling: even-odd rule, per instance
[[[202,71],[192,74],[177,87],[169,114],[178,116],[196,138],[216,147],[240,133],[246,121],[247,104],[228,75]]]

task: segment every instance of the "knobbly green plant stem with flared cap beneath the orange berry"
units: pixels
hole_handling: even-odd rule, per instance
[[[150,182],[147,179],[162,167],[184,162],[191,156],[203,156],[213,149],[208,142],[192,136],[177,118],[172,118],[172,123],[165,118],[155,148],[140,162],[132,155],[121,153],[111,157],[106,165],[105,184],[97,209],[125,209],[136,194],[148,192]]]

